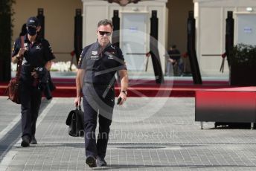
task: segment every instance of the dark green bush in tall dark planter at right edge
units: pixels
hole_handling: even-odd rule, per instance
[[[230,53],[231,86],[256,86],[256,46],[238,44]]]

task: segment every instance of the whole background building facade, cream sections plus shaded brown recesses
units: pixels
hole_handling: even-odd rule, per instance
[[[121,6],[104,0],[74,1],[16,1],[13,5],[13,41],[19,36],[21,26],[28,16],[36,16],[37,8],[45,11],[45,38],[57,56],[57,61],[71,59],[74,50],[74,11],[83,9],[83,47],[96,41],[97,22],[112,19],[114,10],[120,17],[120,47],[130,70],[145,71],[145,54],[149,49],[150,18],[157,11],[159,19],[159,57],[165,71],[164,54],[173,43],[186,51],[186,20],[189,10],[194,10],[196,19],[196,55],[202,77],[228,77],[228,64],[220,72],[221,54],[225,52],[225,19],[233,11],[234,44],[244,42],[255,45],[256,0],[141,0]],[[193,3],[192,3],[193,1]],[[59,7],[62,4],[62,7]],[[175,8],[174,8],[175,7]],[[33,9],[33,10],[29,10]],[[131,49],[133,51],[131,51]],[[130,53],[132,52],[132,53]],[[131,55],[132,54],[132,55]],[[153,75],[151,59],[147,73]]]

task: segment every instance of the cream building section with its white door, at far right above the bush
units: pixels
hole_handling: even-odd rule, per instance
[[[228,77],[228,62],[220,72],[225,52],[225,19],[233,11],[234,45],[256,45],[255,0],[193,0],[196,19],[196,54],[202,77]]]

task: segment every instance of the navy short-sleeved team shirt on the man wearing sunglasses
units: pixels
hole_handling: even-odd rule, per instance
[[[109,43],[101,50],[98,42],[83,48],[78,68],[85,70],[84,82],[95,86],[113,85],[116,71],[127,70],[120,48]]]

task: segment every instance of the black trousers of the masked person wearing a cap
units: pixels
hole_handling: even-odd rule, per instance
[[[20,97],[22,104],[22,137],[35,135],[36,120],[41,104],[42,92],[26,83],[20,84]]]

